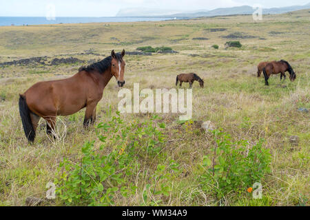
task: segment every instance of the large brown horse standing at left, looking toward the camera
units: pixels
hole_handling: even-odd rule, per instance
[[[72,115],[86,108],[84,127],[96,120],[96,105],[103,96],[103,89],[112,76],[118,87],[125,84],[125,50],[98,63],[81,67],[79,72],[70,78],[39,82],[20,94],[19,113],[23,131],[29,142],[34,142],[40,118],[47,122],[46,133],[52,134],[57,115]]]

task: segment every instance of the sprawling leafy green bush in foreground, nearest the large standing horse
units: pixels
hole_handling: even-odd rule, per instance
[[[134,168],[141,166],[138,159],[161,159],[164,138],[153,122],[155,118],[143,123],[124,124],[118,113],[110,122],[100,123],[96,127],[101,142],[99,149],[95,148],[94,141],[86,142],[78,162],[64,158],[59,164],[54,184],[61,201],[69,206],[110,206],[114,204],[114,197],[134,193],[136,186],[130,177]],[[163,123],[159,126],[165,128]],[[168,167],[171,170],[175,163],[171,162]],[[147,185],[152,186],[152,190],[154,188],[154,193],[167,195],[169,192],[166,170],[166,166],[158,165],[157,173],[154,173],[158,184]]]

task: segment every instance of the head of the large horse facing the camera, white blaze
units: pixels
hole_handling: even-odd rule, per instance
[[[125,50],[117,54],[115,54],[114,50],[112,50],[111,56],[111,74],[116,78],[118,87],[123,87],[125,85],[125,61],[123,60],[123,57],[125,56]]]

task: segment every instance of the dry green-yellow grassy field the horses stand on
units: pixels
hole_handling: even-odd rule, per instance
[[[309,113],[310,108],[310,13],[309,10],[288,14],[266,15],[254,22],[251,16],[214,17],[183,21],[138,23],[88,23],[0,27],[0,63],[47,56],[82,61],[97,61],[116,50],[134,51],[137,47],[172,47],[178,54],[125,56],[126,88],[140,83],[140,88],[175,88],[176,75],[195,72],[205,80],[200,89],[194,83],[193,121],[213,122],[231,135],[233,141],[247,140],[262,146],[272,156],[271,170],[260,182],[262,199],[252,199],[243,186],[242,192],[227,192],[218,197],[211,186],[202,186],[200,176],[203,157],[214,147],[210,133],[191,123],[180,124],[178,114],[159,115],[153,120],[164,122],[165,135],[156,155],[139,155],[131,175],[123,175],[125,184],[135,186],[123,197],[116,192],[114,206],[309,206]],[[218,30],[222,29],[222,30]],[[239,39],[223,36],[240,32]],[[197,40],[196,38],[207,38]],[[240,41],[240,48],[225,48],[227,41]],[[219,45],[216,50],[212,45]],[[92,51],[92,54],[83,54]],[[101,54],[100,56],[97,54]],[[280,75],[269,79],[256,77],[260,61],[285,59],[297,74],[292,83],[280,82]],[[61,117],[67,126],[66,136],[52,142],[45,134],[45,122],[33,145],[23,133],[18,110],[19,94],[41,80],[66,78],[75,74],[81,63],[61,65],[6,65],[0,67],[0,205],[25,206],[28,197],[44,199],[49,181],[63,158],[79,164],[81,148],[94,140],[100,149],[97,129],[83,130],[84,111]],[[287,74],[288,75],[288,74]],[[183,84],[188,87],[188,84]],[[105,88],[97,107],[97,122],[108,122],[116,114],[118,88],[114,80]],[[151,114],[121,114],[125,124],[152,121]],[[63,124],[61,124],[63,126]],[[112,137],[112,133],[105,133]],[[298,136],[298,144],[290,142]],[[251,144],[250,144],[251,145]],[[125,150],[126,151],[126,150]],[[158,175],[158,164],[178,164],[176,175]],[[156,170],[157,169],[157,170]],[[167,171],[168,172],[168,171]],[[169,171],[170,172],[170,171]],[[173,172],[172,172],[173,173]],[[171,173],[169,173],[171,174]],[[165,177],[165,178],[162,178]],[[107,183],[107,185],[113,183]],[[155,188],[167,184],[169,190]],[[128,185],[129,186],[129,185]],[[150,187],[149,187],[150,186]],[[163,186],[163,185],[162,185]],[[106,187],[106,186],[104,186]],[[153,190],[154,188],[154,190]],[[147,199],[146,199],[147,198]],[[45,199],[43,206],[61,206],[62,199]]]

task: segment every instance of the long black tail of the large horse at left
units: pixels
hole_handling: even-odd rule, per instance
[[[25,96],[19,95],[19,114],[21,115],[21,122],[23,123],[23,131],[25,131],[25,136],[29,142],[34,142],[34,137],[36,133],[32,126],[32,120],[30,118],[30,110],[25,101]]]

